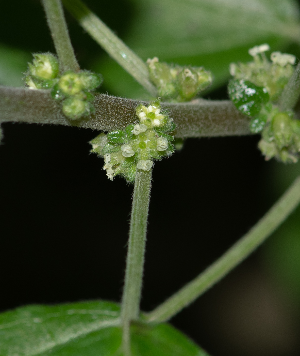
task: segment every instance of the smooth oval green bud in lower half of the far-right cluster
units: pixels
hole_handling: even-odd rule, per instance
[[[285,112],[278,112],[273,118],[273,132],[275,141],[280,149],[287,146],[292,138],[291,119]]]

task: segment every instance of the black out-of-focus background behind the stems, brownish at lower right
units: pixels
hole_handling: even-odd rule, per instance
[[[131,2],[86,2],[120,37],[126,33]],[[39,1],[1,2],[1,9],[0,42],[54,52]],[[88,68],[102,50],[67,20],[77,58]],[[209,96],[226,99],[226,87]],[[133,187],[119,177],[108,180],[102,159],[89,153],[97,132],[2,127],[1,310],[96,298],[119,302]],[[197,276],[279,197],[267,184],[274,162],[264,161],[258,140],[189,139],[181,152],[155,163],[143,310]],[[291,317],[296,309],[268,275],[260,251],[171,321],[212,355],[300,354],[299,323]]]

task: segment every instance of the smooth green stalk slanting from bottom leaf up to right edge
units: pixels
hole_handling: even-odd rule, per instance
[[[204,272],[199,274],[198,277],[173,294],[152,312],[146,313],[146,320],[156,323],[167,321],[191,304],[261,245],[289,216],[299,202],[300,176],[245,236],[205,269]]]

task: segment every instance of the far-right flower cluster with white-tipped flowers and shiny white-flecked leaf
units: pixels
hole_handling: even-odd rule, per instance
[[[279,99],[294,73],[296,57],[273,52],[269,61],[267,44],[250,48],[252,62],[231,63],[228,91],[231,100],[250,118],[250,130],[262,134],[258,147],[266,160],[275,157],[296,163],[300,152],[300,121],[293,111],[280,111]]]

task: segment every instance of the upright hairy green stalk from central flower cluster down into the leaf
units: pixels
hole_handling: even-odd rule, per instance
[[[136,169],[121,308],[126,356],[130,355],[130,321],[139,319],[140,312],[151,175],[152,169],[149,172]]]

